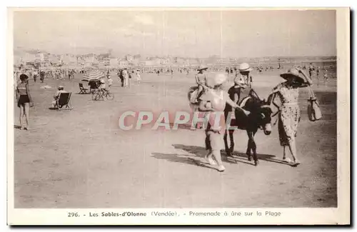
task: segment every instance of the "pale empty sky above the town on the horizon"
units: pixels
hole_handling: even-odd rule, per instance
[[[336,11],[15,11],[14,49],[201,58],[336,56]]]

